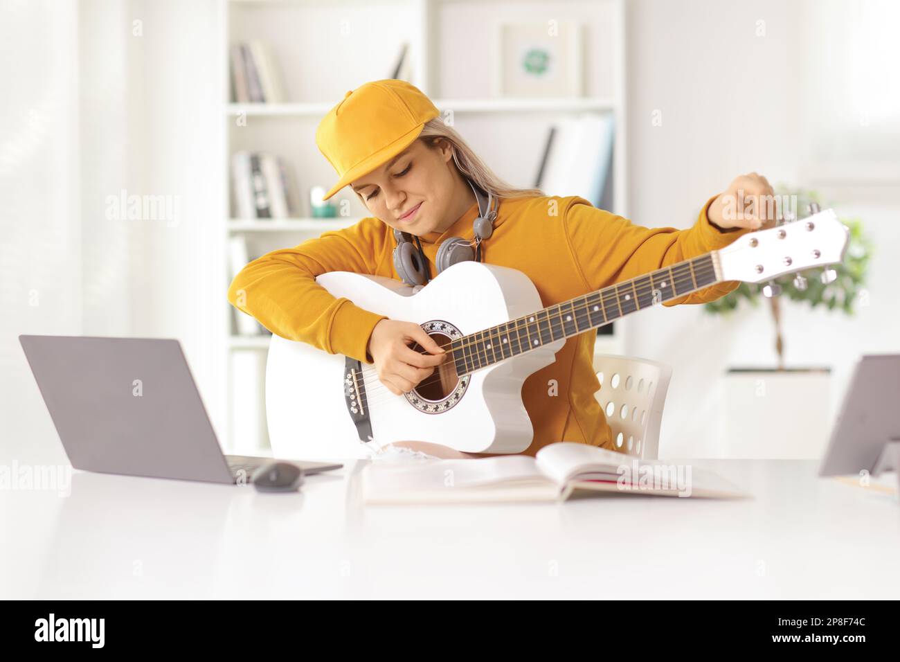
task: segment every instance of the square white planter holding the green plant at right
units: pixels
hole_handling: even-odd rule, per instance
[[[829,367],[729,369],[712,457],[822,457],[830,384]]]

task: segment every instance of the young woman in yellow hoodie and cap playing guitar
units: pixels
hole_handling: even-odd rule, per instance
[[[480,243],[476,257],[483,262],[525,273],[547,306],[721,249],[744,232],[771,224],[756,210],[767,208],[758,204],[759,196],[773,192],[756,173],[737,177],[723,194],[712,196],[689,230],[645,228],[577,195],[513,188],[446,125],[427,96],[399,80],[347,92],[320,122],[316,142],[339,177],[326,199],[350,185],[372,216],[254,260],[231,283],[229,302],[284,338],[374,363],[394,394],[411,391],[431,375],[444,350],[418,323],[388,319],[336,298],[315,278],[329,271],[400,277],[395,230],[407,233],[408,249],[427,259],[426,282],[437,276],[441,243],[458,237]],[[473,186],[500,203],[480,242],[474,241],[479,204]],[[739,195],[749,201],[744,213],[725,213]],[[736,286],[720,283],[665,305],[714,301]],[[567,340],[553,364],[525,381],[522,399],[534,425],[527,454],[561,440],[616,449],[594,398],[599,389],[592,366],[595,338],[590,331]],[[412,342],[428,353],[411,349]]]

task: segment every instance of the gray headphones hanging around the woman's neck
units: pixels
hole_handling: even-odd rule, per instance
[[[494,220],[497,218],[497,210],[494,208],[494,196],[490,192],[485,193],[479,186],[475,186],[472,180],[467,179],[469,186],[475,194],[475,200],[478,202],[478,216],[473,221],[473,231],[475,234],[475,249],[472,248],[472,242],[459,237],[450,237],[441,242],[440,248],[437,249],[437,258],[435,258],[437,273],[441,273],[444,269],[453,267],[457,262],[465,262],[468,260],[482,260],[482,241],[488,239],[494,231]],[[422,250],[422,244],[419,237],[411,235],[409,232],[394,230],[394,239],[397,240],[397,248],[393,251],[394,268],[401,280],[409,286],[425,285],[430,280],[428,277],[428,258]],[[416,247],[413,247],[412,240],[415,239]]]

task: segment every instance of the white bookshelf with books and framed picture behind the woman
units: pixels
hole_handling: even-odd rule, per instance
[[[577,97],[502,98],[491,87],[494,56],[491,33],[500,23],[574,20],[584,26],[583,92]],[[443,112],[452,110],[455,128],[500,177],[518,186],[533,186],[546,131],[566,113],[611,113],[616,136],[613,155],[613,211],[626,213],[626,94],[624,0],[220,0],[221,181],[220,234],[225,265],[222,292],[230,282],[228,239],[247,239],[250,258],[347,227],[368,215],[345,189],[335,196],[345,202],[345,217],[284,220],[243,219],[232,215],[230,157],[237,150],[267,151],[289,161],[296,173],[302,213],[310,213],[311,186],[331,186],[336,174],[315,145],[322,116],[347,90],[368,80],[389,77],[402,41],[410,44],[410,82]],[[464,35],[464,41],[461,40]],[[229,46],[236,41],[268,41],[279,62],[289,99],[283,104],[237,104],[229,97]],[[509,150],[515,145],[515,150]],[[223,296],[224,298],[224,296]],[[227,316],[226,316],[227,315]],[[265,363],[269,337],[235,333],[229,306],[223,311],[228,420],[218,422],[227,452],[267,453],[265,431],[256,439],[235,439],[232,416],[257,409],[264,385],[253,394],[233,395],[232,359],[253,353]],[[626,321],[616,333],[599,336],[596,352],[625,353]],[[242,355],[247,358],[247,354]],[[265,421],[265,409],[255,412]],[[246,429],[243,426],[242,429]],[[246,435],[245,435],[246,436]]]

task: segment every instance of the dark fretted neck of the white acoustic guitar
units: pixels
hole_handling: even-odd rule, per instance
[[[470,333],[451,344],[456,374],[466,375],[716,285],[720,282],[717,274],[716,251],[713,251]]]

